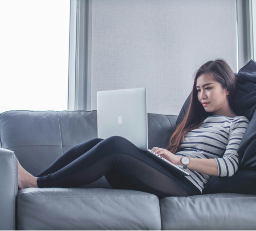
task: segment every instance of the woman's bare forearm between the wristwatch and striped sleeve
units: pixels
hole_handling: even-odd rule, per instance
[[[181,159],[183,156],[178,156],[178,161],[176,165],[183,166]],[[190,157],[189,157],[190,158]],[[217,176],[218,166],[215,159],[200,159],[200,158],[190,158],[190,163],[187,165],[189,170],[193,170],[202,174]]]

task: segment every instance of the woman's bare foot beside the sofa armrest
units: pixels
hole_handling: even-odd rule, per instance
[[[28,173],[18,161],[18,190],[27,188],[38,188],[37,177]]]

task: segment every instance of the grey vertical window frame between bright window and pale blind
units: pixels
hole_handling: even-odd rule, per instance
[[[92,0],[70,1],[68,110],[91,110]]]

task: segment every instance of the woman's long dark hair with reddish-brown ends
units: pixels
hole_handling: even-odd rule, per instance
[[[196,85],[199,76],[202,74],[209,74],[215,81],[221,84],[223,89],[227,87],[229,90],[229,105],[232,109],[234,106],[234,97],[236,95],[236,87],[238,81],[236,75],[233,73],[231,67],[225,60],[216,59],[215,61],[208,61],[203,64],[195,73],[196,76],[188,110],[185,113],[182,122],[178,125],[178,128],[176,128],[175,132],[173,133],[172,137],[170,137],[169,145],[166,148],[168,151],[174,154],[178,152],[182,138],[185,140],[184,135],[191,130],[195,130],[201,127],[204,120],[207,117],[212,116],[212,113],[205,111],[203,105],[198,100],[198,91]]]

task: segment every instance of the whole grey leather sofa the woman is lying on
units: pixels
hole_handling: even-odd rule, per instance
[[[148,113],[149,148],[165,148],[178,116]],[[69,189],[18,191],[17,161],[40,173],[71,147],[97,137],[97,111],[0,114],[1,230],[255,230],[256,195],[157,196],[111,189],[105,177]]]

